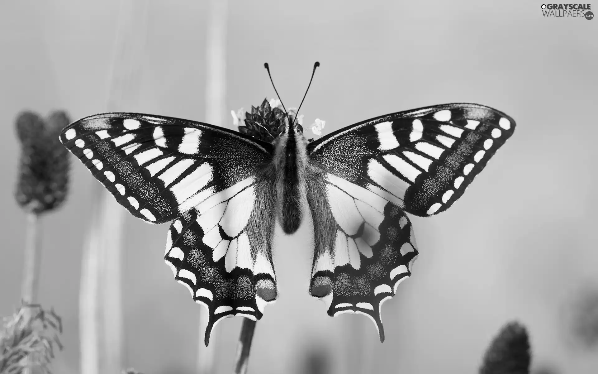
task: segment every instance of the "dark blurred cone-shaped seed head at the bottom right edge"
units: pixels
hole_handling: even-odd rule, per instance
[[[502,327],[484,355],[480,374],[529,374],[529,336],[517,322]]]

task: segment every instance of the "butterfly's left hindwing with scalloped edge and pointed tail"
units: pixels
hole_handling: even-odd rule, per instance
[[[271,256],[273,190],[241,181],[182,215],[170,226],[164,259],[176,281],[208,309],[205,344],[222,318],[257,321],[276,299]]]

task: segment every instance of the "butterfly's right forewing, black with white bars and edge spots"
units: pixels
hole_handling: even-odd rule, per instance
[[[421,217],[448,209],[512,135],[515,121],[478,104],[383,115],[309,144],[312,162]]]

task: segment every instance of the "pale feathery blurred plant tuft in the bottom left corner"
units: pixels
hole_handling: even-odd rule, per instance
[[[4,318],[0,328],[0,373],[20,374],[26,367],[36,367],[50,373],[54,347],[62,350],[59,334],[62,321],[54,311],[39,305],[23,305],[19,311]]]

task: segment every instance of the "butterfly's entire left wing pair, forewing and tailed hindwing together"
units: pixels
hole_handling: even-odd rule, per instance
[[[97,114],[66,127],[63,144],[129,212],[173,221],[164,259],[177,281],[224,317],[262,317],[276,299],[270,144],[205,123],[133,113]],[[234,151],[231,151],[234,150]]]

